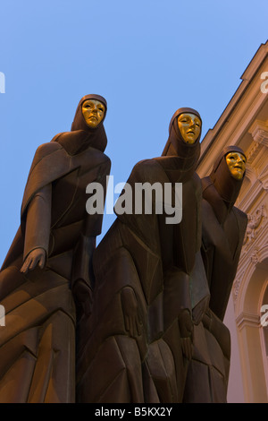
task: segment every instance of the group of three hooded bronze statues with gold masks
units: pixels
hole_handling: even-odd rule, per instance
[[[201,180],[202,120],[178,109],[162,156],[138,162],[128,185],[171,185],[175,209],[182,183],[180,223],[166,223],[153,194],[150,213],[115,207],[96,247],[103,215],[86,211],[86,187],[105,189],[110,172],[106,110],[103,97],[83,97],[71,132],[41,145],[29,170],[0,271],[0,402],[225,402],[245,153],[227,147]]]

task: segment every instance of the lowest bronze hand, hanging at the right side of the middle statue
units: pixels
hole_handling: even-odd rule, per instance
[[[187,309],[182,310],[182,312],[179,314],[178,322],[182,353],[186,358],[188,358],[188,360],[190,360],[193,354],[192,340],[194,325]]]

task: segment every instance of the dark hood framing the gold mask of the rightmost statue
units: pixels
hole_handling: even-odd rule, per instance
[[[226,157],[231,157],[231,152],[234,152],[235,155],[238,154],[239,156],[244,157],[246,162],[247,159],[243,150],[241,150],[238,146],[226,146],[222,150],[219,158],[216,159],[214,168],[210,174],[210,178],[214,183],[215,189],[220,194],[223,201],[226,202],[229,208],[231,208],[236,202],[246,174],[245,170],[240,171],[241,176],[234,176],[232,174],[232,169],[226,161]],[[245,168],[245,164],[241,165],[240,167]]]

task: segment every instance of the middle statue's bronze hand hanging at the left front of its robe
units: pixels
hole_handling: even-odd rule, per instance
[[[121,305],[126,331],[130,332],[132,338],[136,338],[141,334],[141,322],[138,316],[138,301],[132,288],[122,288]]]

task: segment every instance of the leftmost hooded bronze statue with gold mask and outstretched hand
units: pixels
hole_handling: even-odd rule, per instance
[[[0,272],[1,402],[74,402],[76,348],[91,311],[92,253],[101,214],[86,186],[104,185],[105,99],[80,100],[71,132],[41,145],[21,205],[21,227]]]

